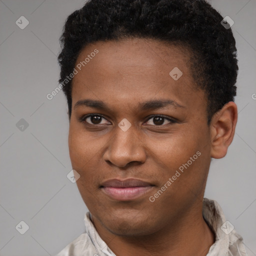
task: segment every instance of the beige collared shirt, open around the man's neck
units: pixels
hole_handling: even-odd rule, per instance
[[[247,256],[242,237],[233,225],[225,220],[216,201],[203,198],[202,215],[215,233],[215,242],[206,256]],[[55,256],[116,256],[100,238],[90,220],[89,211],[85,214],[84,223],[85,232]]]

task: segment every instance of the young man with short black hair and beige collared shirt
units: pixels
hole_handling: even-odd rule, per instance
[[[204,0],[90,0],[68,16],[59,82],[86,232],[57,255],[247,255],[214,200],[237,121],[231,29]]]

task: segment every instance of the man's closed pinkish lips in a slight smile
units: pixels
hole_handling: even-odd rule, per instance
[[[109,179],[100,186],[102,192],[111,199],[119,201],[136,199],[151,190],[152,187],[152,184],[134,178],[125,180]]]

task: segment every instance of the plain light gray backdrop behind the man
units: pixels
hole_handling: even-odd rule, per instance
[[[84,232],[87,208],[66,177],[65,98],[46,98],[58,85],[64,20],[83,2],[0,0],[0,255],[54,255]],[[234,20],[239,114],[226,157],[211,162],[205,197],[218,201],[248,255],[256,255],[256,0],[211,3]],[[29,21],[24,29],[15,24],[21,15]],[[15,229],[21,220],[29,225],[23,235]]]

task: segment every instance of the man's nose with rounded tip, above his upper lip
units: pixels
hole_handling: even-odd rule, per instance
[[[139,138],[138,131],[133,127],[126,131],[116,127],[103,159],[118,167],[125,167],[131,162],[145,162],[145,144]]]

